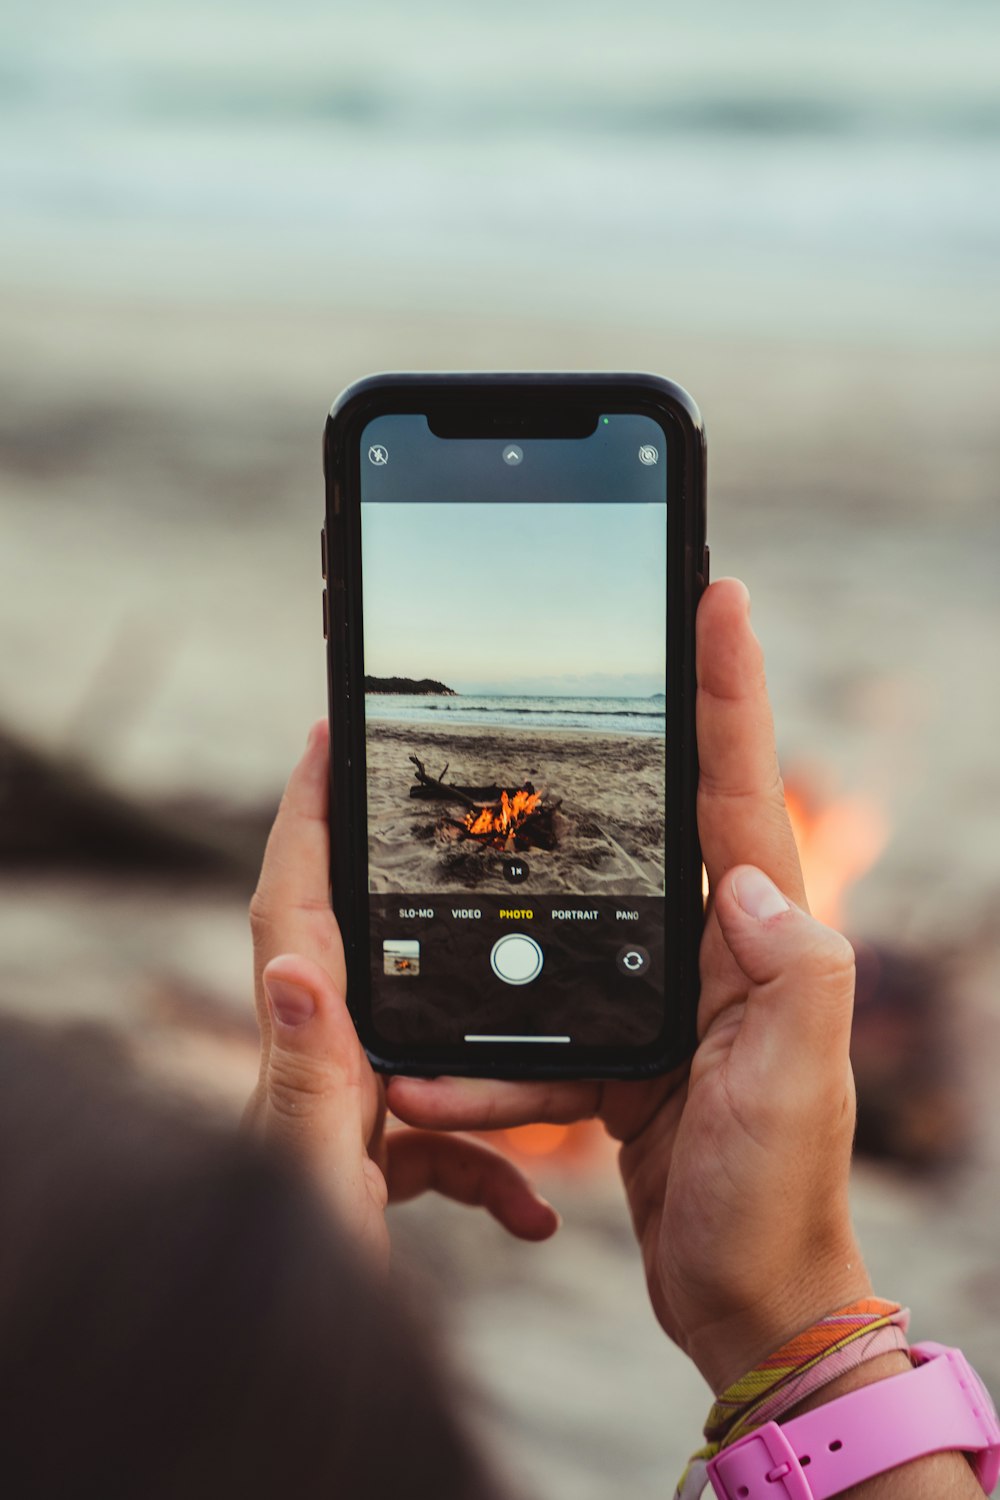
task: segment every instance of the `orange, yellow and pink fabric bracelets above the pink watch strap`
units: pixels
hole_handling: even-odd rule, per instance
[[[909,1350],[909,1308],[862,1298],[820,1318],[741,1376],[718,1396],[705,1424],[705,1448],[691,1455],[675,1500],[697,1500],[708,1484],[706,1464],[723,1448],[793,1407],[847,1370],[894,1350]]]

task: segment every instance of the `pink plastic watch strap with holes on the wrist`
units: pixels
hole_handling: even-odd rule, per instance
[[[852,1390],[778,1426],[768,1422],[708,1464],[720,1500],[828,1500],[913,1458],[970,1455],[990,1494],[1000,1476],[1000,1422],[958,1348],[916,1344],[918,1368]]]

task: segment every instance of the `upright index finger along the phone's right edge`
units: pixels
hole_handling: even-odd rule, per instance
[[[697,615],[699,834],[709,884],[754,864],[805,906],[750,594],[718,579]]]

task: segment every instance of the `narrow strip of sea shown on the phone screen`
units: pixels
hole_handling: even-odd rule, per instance
[[[591,734],[661,735],[666,702],[658,698],[558,698],[501,693],[460,693],[430,698],[420,693],[366,693],[369,722],[402,720],[448,729],[588,729]]]

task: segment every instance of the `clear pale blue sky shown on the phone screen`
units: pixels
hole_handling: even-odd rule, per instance
[[[663,692],[663,506],[369,504],[361,537],[369,675]]]

